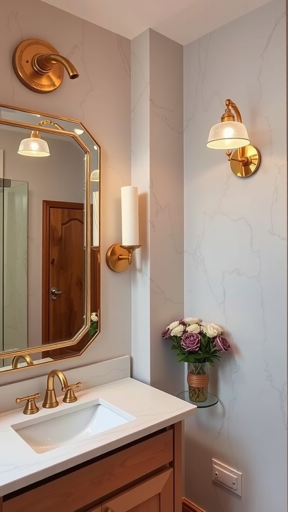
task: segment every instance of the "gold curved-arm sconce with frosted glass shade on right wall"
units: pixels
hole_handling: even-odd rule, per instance
[[[247,178],[256,172],[261,155],[256,147],[250,145],[250,139],[237,105],[231,100],[225,101],[225,112],[221,122],[212,126],[207,147],[226,150],[232,172],[239,178]],[[234,110],[235,116],[232,112]],[[236,151],[232,152],[232,150]]]

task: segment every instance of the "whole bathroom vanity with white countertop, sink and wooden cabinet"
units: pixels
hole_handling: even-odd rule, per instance
[[[77,397],[0,415],[0,512],[180,512],[181,421],[196,407],[132,378]]]

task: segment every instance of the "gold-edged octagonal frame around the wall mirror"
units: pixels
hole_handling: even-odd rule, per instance
[[[100,146],[96,142],[96,140],[91,136],[86,127],[79,121],[68,119],[64,117],[56,117],[51,116],[50,114],[39,113],[35,111],[27,111],[20,108],[11,107],[8,105],[0,104],[0,130],[6,129],[11,132],[15,130],[20,130],[23,133],[27,132],[27,137],[29,137],[29,133],[37,130],[38,134],[41,138],[46,138],[48,141],[50,139],[56,139],[57,144],[59,141],[63,142],[63,146],[67,141],[69,143],[73,142],[74,148],[76,152],[83,153],[83,161],[84,161],[84,173],[83,173],[83,260],[84,260],[84,270],[83,270],[83,311],[84,311],[84,322],[80,329],[77,330],[73,334],[70,339],[61,339],[56,343],[45,343],[43,345],[43,329],[41,334],[41,341],[38,346],[30,346],[29,347],[29,331],[28,331],[28,345],[26,348],[16,349],[5,351],[4,349],[4,328],[3,323],[0,322],[0,330],[2,335],[2,346],[0,346],[0,362],[2,361],[2,367],[0,368],[0,375],[2,371],[16,371],[17,369],[24,367],[27,368],[27,362],[29,365],[29,361],[33,361],[33,364],[47,364],[50,361],[55,361],[59,359],[66,359],[70,357],[75,357],[83,353],[86,348],[92,343],[97,334],[100,331],[100,232],[99,232],[99,203],[100,203],[100,178],[97,180],[97,191],[98,191],[98,202],[97,202],[97,239],[96,244],[94,243],[94,196],[93,196],[93,177],[91,176],[93,171],[95,175],[95,169],[98,171],[98,176],[100,175]],[[19,120],[20,119],[20,120]],[[60,129],[59,129],[60,127]],[[1,133],[1,132],[0,132]],[[24,137],[23,137],[24,138]],[[50,138],[50,139],[49,139]],[[1,137],[0,137],[1,140]],[[50,142],[49,142],[50,144]],[[1,148],[1,143],[0,143]],[[4,153],[4,162],[5,162],[5,147],[3,148]],[[65,148],[67,152],[67,149]],[[69,149],[69,152],[71,150]],[[74,151],[74,150],[73,150]],[[28,159],[30,162],[37,161],[37,164],[40,165],[40,162],[43,160],[47,160],[46,158],[32,158],[26,156],[19,156],[20,159]],[[50,157],[48,157],[50,158]],[[8,158],[7,158],[8,160]],[[23,162],[23,160],[22,160]],[[0,162],[1,164],[1,162]],[[1,167],[1,165],[0,165]],[[81,170],[80,170],[81,172]],[[83,172],[83,171],[82,171]],[[4,166],[4,174],[2,176],[3,185],[6,182],[7,173],[5,173]],[[8,179],[9,181],[9,179]],[[92,188],[91,188],[92,183]],[[1,191],[4,191],[4,186],[0,188]],[[93,197],[92,197],[93,196]],[[52,201],[53,202],[53,201]],[[44,216],[44,203],[49,203],[49,201],[43,200],[43,212]],[[47,207],[47,204],[46,204]],[[4,211],[4,210],[3,210]],[[34,212],[35,214],[35,212]],[[30,213],[29,213],[30,215]],[[4,218],[4,214],[3,214]],[[3,219],[2,219],[3,220]],[[4,222],[2,222],[4,224]],[[45,239],[45,221],[43,218],[43,231],[42,231],[42,239]],[[47,233],[46,233],[47,234]],[[43,242],[45,245],[45,243]],[[44,246],[42,247],[44,249]],[[4,252],[4,248],[3,248]],[[44,252],[42,255],[42,266],[44,261]],[[51,263],[51,262],[50,262]],[[3,265],[2,265],[3,267]],[[29,277],[27,278],[28,281]],[[2,276],[3,281],[3,276]],[[45,283],[44,273],[42,270],[42,284]],[[52,290],[52,289],[51,289]],[[56,292],[57,293],[57,292]],[[57,295],[54,295],[58,298]],[[51,300],[51,294],[49,290],[49,300]],[[92,302],[92,304],[91,304]],[[0,301],[0,307],[2,311],[4,309],[4,298],[2,293],[2,303]],[[92,322],[92,317],[95,319],[95,315],[97,317],[97,322]],[[42,311],[43,315],[43,311]],[[91,325],[95,327],[91,330]],[[0,338],[1,344],[1,338]],[[43,354],[43,355],[42,355]],[[39,358],[39,356],[41,356]],[[25,361],[26,359],[26,361]],[[47,360],[48,359],[48,360]],[[10,364],[8,364],[8,361]],[[16,364],[15,364],[16,361]],[[6,363],[6,364],[5,364]],[[13,363],[13,366],[12,366]],[[23,366],[24,365],[24,366]],[[28,366],[29,367],[29,366]]]

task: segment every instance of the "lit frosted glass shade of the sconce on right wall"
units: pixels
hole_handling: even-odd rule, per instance
[[[207,147],[214,150],[233,150],[237,147],[248,146],[250,140],[246,127],[238,121],[224,121],[212,126]]]

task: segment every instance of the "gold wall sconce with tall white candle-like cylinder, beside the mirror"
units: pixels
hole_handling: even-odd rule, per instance
[[[113,244],[106,252],[106,263],[113,272],[123,272],[133,260],[133,252],[141,247],[138,233],[138,187],[121,187],[122,243]]]

